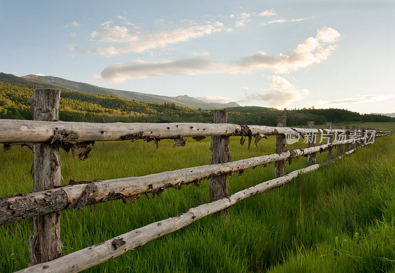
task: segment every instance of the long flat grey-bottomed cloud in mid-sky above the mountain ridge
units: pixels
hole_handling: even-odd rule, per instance
[[[101,77],[105,80],[121,83],[130,78],[147,78],[165,75],[196,75],[224,71],[226,67],[215,61],[201,57],[176,61],[146,62],[135,61],[106,67]]]

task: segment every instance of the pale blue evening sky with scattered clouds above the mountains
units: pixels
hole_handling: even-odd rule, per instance
[[[282,109],[395,112],[395,1],[5,1],[0,71]]]

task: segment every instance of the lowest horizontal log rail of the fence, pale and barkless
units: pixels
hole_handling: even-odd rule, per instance
[[[344,155],[351,154],[354,151],[355,149],[352,149],[344,153]],[[337,157],[336,159],[339,158],[341,157]],[[126,251],[144,245],[151,240],[184,228],[200,218],[213,214],[217,211],[221,211],[222,209],[230,207],[231,205],[235,205],[237,202],[250,196],[254,196],[266,190],[283,185],[301,173],[315,171],[319,167],[320,164],[315,164],[301,170],[292,171],[284,176],[280,176],[278,178],[265,181],[253,187],[239,191],[229,197],[222,198],[211,203],[198,205],[177,216],[149,224],[147,226],[117,236],[113,239],[86,247],[46,263],[28,267],[18,272],[41,273],[43,270],[47,270],[48,272],[52,273],[80,272],[95,265],[104,263],[114,257],[118,257]]]

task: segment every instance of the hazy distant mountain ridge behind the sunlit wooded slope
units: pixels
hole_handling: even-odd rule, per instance
[[[124,100],[136,100],[150,103],[175,103],[179,106],[189,107],[193,109],[221,109],[226,107],[240,106],[237,102],[228,103],[215,103],[215,102],[204,102],[187,95],[168,97],[160,95],[152,95],[140,92],[117,90],[111,88],[99,87],[83,82],[71,81],[54,76],[39,76],[39,75],[26,75],[22,77],[15,76],[13,74],[6,74],[0,72],[0,81],[11,84],[21,84],[23,86],[35,87],[35,88],[59,88],[66,89],[68,91],[88,92],[102,95],[111,95]]]

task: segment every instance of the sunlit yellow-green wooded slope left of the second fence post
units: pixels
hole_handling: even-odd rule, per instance
[[[0,82],[0,118],[32,119],[30,88]],[[211,113],[174,103],[127,101],[115,96],[63,90],[59,103],[63,121],[86,122],[209,122]]]

